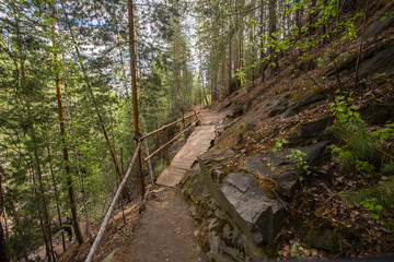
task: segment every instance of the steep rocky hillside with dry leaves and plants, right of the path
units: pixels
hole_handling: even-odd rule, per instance
[[[231,112],[183,186],[213,260],[393,251],[393,5],[372,8],[357,88],[361,37],[335,62],[329,44],[285,59],[213,106]]]

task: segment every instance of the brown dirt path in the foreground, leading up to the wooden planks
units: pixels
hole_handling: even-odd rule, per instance
[[[196,228],[181,190],[160,187],[149,194],[134,237],[116,261],[207,261],[193,236]]]

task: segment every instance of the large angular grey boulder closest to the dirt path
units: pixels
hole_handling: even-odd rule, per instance
[[[269,242],[276,237],[279,229],[274,228],[274,217],[283,218],[281,215],[276,215],[282,212],[283,206],[278,201],[265,196],[252,174],[230,174],[223,180],[221,190],[240,216],[250,225],[252,236],[257,243]],[[281,223],[278,224],[280,227]]]

